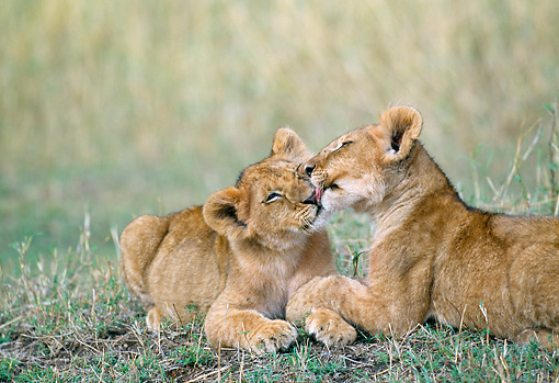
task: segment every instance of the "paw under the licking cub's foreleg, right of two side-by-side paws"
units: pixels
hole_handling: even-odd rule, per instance
[[[338,313],[328,308],[318,308],[306,319],[307,331],[328,347],[353,343],[357,337],[355,328]]]

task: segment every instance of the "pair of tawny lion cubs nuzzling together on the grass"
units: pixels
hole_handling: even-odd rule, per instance
[[[306,328],[327,345],[404,335],[427,318],[559,345],[559,219],[467,206],[417,139],[420,113],[388,109],[317,156],[277,131],[270,158],[203,207],[141,216],[122,235],[122,270],[157,329],[207,313],[214,347],[288,347]],[[310,181],[310,182],[309,182]],[[336,275],[324,229],[353,207],[376,224],[365,282]]]

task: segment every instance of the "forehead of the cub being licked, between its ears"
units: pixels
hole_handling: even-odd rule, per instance
[[[263,160],[251,165],[239,176],[237,188],[242,185],[270,185],[285,182],[296,177],[297,165],[284,160]]]

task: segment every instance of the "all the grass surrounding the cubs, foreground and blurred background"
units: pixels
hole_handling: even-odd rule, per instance
[[[0,2],[0,381],[557,382],[557,353],[434,323],[265,357],[212,350],[202,318],[158,337],[114,240],[282,125],[316,151],[397,102],[469,203],[557,215],[557,35],[547,0]],[[366,274],[373,234],[332,218],[340,272]]]

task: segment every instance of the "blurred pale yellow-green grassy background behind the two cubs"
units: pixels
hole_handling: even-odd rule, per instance
[[[464,195],[506,176],[559,86],[559,2],[0,2],[0,266],[203,203],[265,157],[312,150],[408,103]],[[481,147],[480,147],[481,145]],[[489,159],[491,159],[489,161]]]

